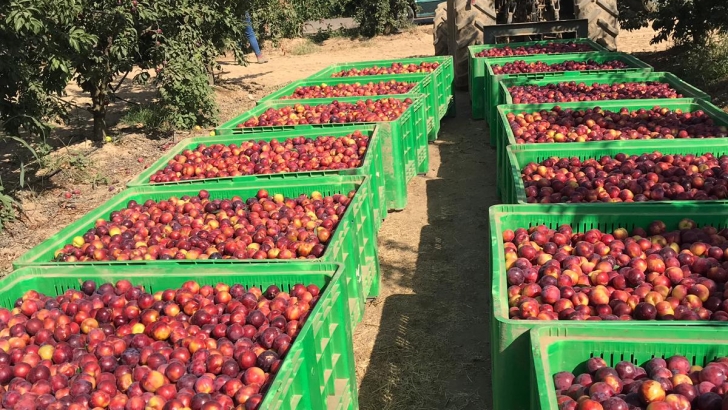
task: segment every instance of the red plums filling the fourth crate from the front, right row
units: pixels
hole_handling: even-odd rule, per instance
[[[506,118],[517,144],[728,136],[728,128],[716,125],[703,111],[660,107],[614,112],[600,107],[574,110],[557,106],[534,113],[509,113]]]

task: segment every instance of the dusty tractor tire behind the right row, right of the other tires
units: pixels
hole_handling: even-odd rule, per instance
[[[610,50],[617,50],[617,0],[577,0],[574,2],[574,14],[577,19],[589,20],[590,39]]]

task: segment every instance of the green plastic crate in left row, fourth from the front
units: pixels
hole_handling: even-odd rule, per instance
[[[397,98],[397,97],[387,97]],[[412,105],[394,121],[378,122],[382,141],[385,187],[387,188],[387,209],[402,210],[407,205],[407,183],[418,173],[426,173],[430,163],[427,141],[427,113],[425,96],[412,98]],[[253,116],[259,116],[269,108],[281,108],[294,104],[328,104],[332,101],[355,103],[360,97],[315,100],[275,100],[266,101],[226,122],[215,129],[217,135],[263,134],[285,130],[328,129],[348,124],[304,124],[285,126],[264,126],[238,128],[237,125]],[[371,124],[371,123],[357,123]]]

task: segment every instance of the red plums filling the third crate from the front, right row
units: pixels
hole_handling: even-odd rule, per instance
[[[528,202],[645,202],[728,198],[728,156],[551,157],[522,170]]]

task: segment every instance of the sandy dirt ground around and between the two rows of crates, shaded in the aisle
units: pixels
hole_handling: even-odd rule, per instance
[[[620,50],[665,48],[649,46],[650,38],[649,30],[626,33]],[[269,51],[271,61],[261,65],[223,59],[221,120],[332,63],[431,55],[431,39],[430,27],[419,27],[366,41],[288,41]],[[444,120],[438,141],[430,145],[429,172],[410,183],[407,208],[390,214],[379,234],[382,293],[368,304],[355,334],[364,410],[491,408],[487,218],[488,207],[498,203],[495,152],[486,143],[486,124],[470,119],[468,94],[459,92],[456,102],[457,116]],[[99,145],[84,140],[87,122],[79,118],[86,127],[81,133],[65,130],[72,138],[53,155],[61,165],[23,193],[25,214],[0,234],[0,272],[189,136],[148,138],[119,126],[113,143]],[[74,166],[79,162],[84,172]]]

